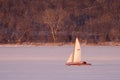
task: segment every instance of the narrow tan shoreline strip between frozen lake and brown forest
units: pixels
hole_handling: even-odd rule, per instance
[[[74,43],[69,42],[69,43],[64,43],[64,42],[60,42],[60,43],[31,43],[31,42],[25,42],[25,43],[15,43],[15,44],[0,44],[0,47],[5,46],[5,47],[9,47],[9,46],[73,46]],[[100,42],[100,43],[81,43],[82,46],[120,46],[120,42]]]

